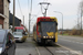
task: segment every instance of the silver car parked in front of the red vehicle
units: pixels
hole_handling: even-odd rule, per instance
[[[15,42],[24,42],[27,36],[22,34],[22,32],[13,32]]]

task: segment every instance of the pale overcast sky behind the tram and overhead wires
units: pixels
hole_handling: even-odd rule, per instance
[[[13,0],[10,0],[10,12],[13,13]],[[18,2],[19,1],[19,2]],[[15,0],[15,16],[23,20],[24,25],[29,29],[29,12],[31,0]],[[77,21],[77,11],[81,0],[32,0],[32,16],[31,16],[31,31],[33,24],[37,22],[38,16],[43,16],[40,2],[50,2],[46,16],[55,16],[58,19],[58,29],[62,29],[62,14],[63,14],[63,29],[73,29]],[[19,7],[20,3],[20,7]],[[21,11],[20,11],[21,8]],[[58,11],[58,12],[54,12]],[[61,13],[59,13],[61,12]],[[23,22],[22,22],[23,23]]]

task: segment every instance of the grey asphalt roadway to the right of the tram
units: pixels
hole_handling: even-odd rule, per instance
[[[58,44],[83,53],[83,37],[59,35]]]

